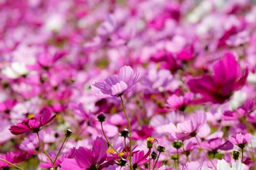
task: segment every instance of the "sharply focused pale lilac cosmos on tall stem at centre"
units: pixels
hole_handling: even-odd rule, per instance
[[[131,92],[132,87],[140,80],[138,70],[134,73],[130,66],[120,68],[118,75],[108,76],[102,82],[93,84],[100,97],[118,97]]]

